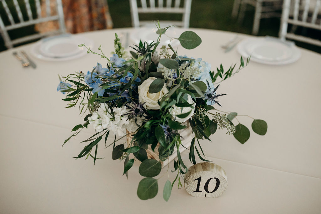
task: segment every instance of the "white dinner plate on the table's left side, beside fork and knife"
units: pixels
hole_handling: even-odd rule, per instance
[[[93,41],[82,35],[60,35],[41,39],[32,45],[30,53],[46,61],[67,61],[79,58],[87,54],[86,47],[78,47],[84,44],[93,47]]]

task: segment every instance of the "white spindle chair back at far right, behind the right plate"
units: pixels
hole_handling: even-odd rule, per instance
[[[313,8],[311,5],[314,5]],[[321,0],[284,0],[279,37],[321,46],[321,41],[288,32],[288,24],[321,30]],[[294,30],[295,31],[295,30]]]

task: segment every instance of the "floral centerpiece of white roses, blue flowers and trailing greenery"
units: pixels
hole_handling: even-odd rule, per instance
[[[157,27],[158,39],[152,43],[141,41],[133,46],[131,57],[117,34],[111,57],[104,55],[101,47],[99,53],[87,47],[88,53],[105,58],[106,66],[97,63],[92,71],[70,74],[65,81],[59,77],[57,91],[67,93],[63,100],[68,101],[68,107],[79,104],[81,113],[86,115],[85,123],[76,125],[72,129],[75,133],[64,144],[83,128],[93,126],[96,133],[82,141],[89,144],[76,158],[92,157],[95,163],[98,143],[102,142],[106,147],[113,146],[113,160],[124,160],[123,173],[126,176],[134,161],[141,161],[138,171],[145,178],[138,184],[140,199],[153,198],[157,194],[158,181],[153,177],[160,174],[161,162],[175,152],[174,172],[177,176],[174,181],[168,180],[163,189],[164,199],[168,201],[172,186],[176,181],[178,187],[182,186],[181,176],[187,172],[179,150],[184,141],[181,130],[192,129],[193,138],[187,147],[193,164],[196,164],[195,151],[201,160],[207,161],[199,139],[210,140],[217,128],[226,129],[227,134],[233,134],[241,143],[248,140],[250,132],[247,127],[232,123],[237,113],[221,112],[215,109],[215,105],[221,106],[218,98],[226,95],[219,93],[216,82],[238,73],[248,64],[249,58],[245,63],[241,57],[238,69],[234,65],[224,72],[221,65],[211,71],[210,64],[201,58],[180,56],[170,44],[159,47],[160,37],[171,26],[161,29],[158,22]],[[202,41],[192,31],[185,31],[176,39],[186,49],[193,49]],[[79,45],[82,46],[85,44]],[[263,120],[254,119],[252,129],[264,135],[267,125]],[[126,136],[129,136],[128,144],[120,141]],[[110,145],[106,145],[108,137],[113,139]],[[149,150],[158,150],[158,160],[147,156]]]

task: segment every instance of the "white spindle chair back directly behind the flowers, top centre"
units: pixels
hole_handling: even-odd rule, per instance
[[[182,21],[170,21],[171,24],[179,27],[189,27],[189,17],[191,13],[192,0],[137,0],[130,1],[130,12],[132,16],[133,27],[138,28],[144,24],[150,24],[151,21],[140,21],[139,13],[178,13],[182,14]],[[160,20],[161,23],[164,21]]]

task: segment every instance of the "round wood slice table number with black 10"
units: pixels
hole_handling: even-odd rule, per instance
[[[227,187],[224,169],[213,163],[198,163],[188,168],[184,182],[187,193],[195,197],[219,197]]]

